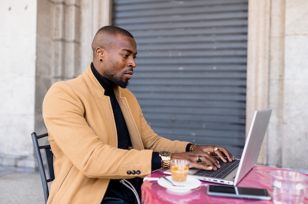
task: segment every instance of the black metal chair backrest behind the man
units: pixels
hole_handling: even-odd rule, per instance
[[[44,197],[45,197],[45,203],[47,203],[47,199],[49,196],[49,189],[48,189],[48,182],[51,182],[55,179],[55,173],[54,173],[54,167],[53,167],[53,156],[54,154],[51,151],[50,145],[39,145],[38,140],[40,138],[47,138],[48,133],[44,133],[41,135],[36,135],[35,132],[31,133],[32,142],[34,146],[34,151],[38,163],[38,170],[41,175],[42,185],[43,185],[43,191],[44,191]],[[46,157],[46,169],[44,167],[42,154],[40,150],[44,150]],[[48,173],[48,178],[46,177],[46,172]]]

